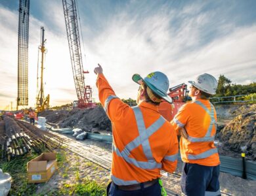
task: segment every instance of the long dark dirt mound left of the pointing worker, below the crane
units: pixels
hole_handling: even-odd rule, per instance
[[[95,108],[74,108],[68,110],[48,110],[42,112],[47,122],[56,123],[60,128],[75,127],[83,131],[98,133],[100,130],[111,131],[111,122],[101,106]]]

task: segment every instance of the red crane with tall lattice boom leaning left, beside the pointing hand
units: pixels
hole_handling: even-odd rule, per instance
[[[77,22],[77,5],[75,0],[62,0],[64,17],[66,22],[66,31],[68,35],[68,45],[70,48],[70,59],[72,63],[72,71],[75,82],[75,90],[77,93],[77,103],[79,108],[87,108],[95,106],[92,101],[92,88],[85,86],[85,73],[83,71],[83,61],[81,57],[79,30]]]

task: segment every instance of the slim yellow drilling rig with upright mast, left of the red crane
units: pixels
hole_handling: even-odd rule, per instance
[[[37,65],[37,91],[38,95],[36,97],[36,108],[37,112],[42,112],[45,109],[49,108],[49,101],[50,101],[50,95],[47,95],[45,98],[44,95],[44,86],[43,86],[43,62],[45,60],[45,29],[44,27],[41,27],[41,45],[38,47],[38,49],[41,51],[41,82],[40,82],[40,90],[38,91],[38,70],[39,70],[39,65]],[[38,56],[39,57],[39,56]]]

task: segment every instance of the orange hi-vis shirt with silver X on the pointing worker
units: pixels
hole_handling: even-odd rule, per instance
[[[98,74],[96,86],[100,103],[112,122],[112,181],[117,185],[138,184],[159,178],[160,170],[175,171],[177,135],[157,106],[142,102],[130,107],[123,103],[103,74]]]

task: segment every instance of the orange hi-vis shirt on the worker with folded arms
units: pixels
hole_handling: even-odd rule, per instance
[[[219,154],[214,145],[217,128],[217,115],[214,106],[206,99],[198,99],[183,105],[171,124],[175,131],[184,127],[188,139],[181,137],[181,159],[186,163],[205,166],[220,164]]]

